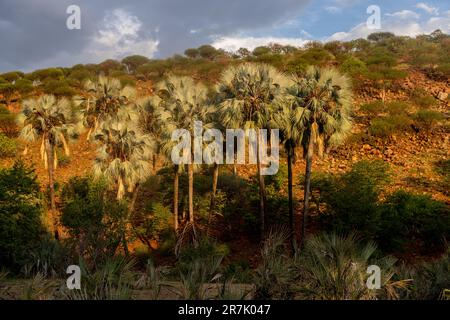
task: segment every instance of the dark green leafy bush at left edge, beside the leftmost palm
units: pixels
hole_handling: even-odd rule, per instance
[[[22,161],[0,169],[0,265],[20,271],[46,234],[34,169]]]

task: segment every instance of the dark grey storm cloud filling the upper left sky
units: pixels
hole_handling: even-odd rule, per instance
[[[251,31],[289,19],[307,0],[1,0],[0,71],[32,69],[56,56],[76,56],[98,32],[108,11],[139,18],[139,35],[159,40],[158,56],[211,42],[214,35]],[[68,30],[66,8],[81,8],[82,30]],[[155,30],[158,30],[155,33]],[[195,32],[191,32],[195,30]],[[86,58],[84,58],[86,59]]]

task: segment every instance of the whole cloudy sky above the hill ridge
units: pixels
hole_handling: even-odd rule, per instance
[[[80,8],[80,29],[67,28],[70,5]],[[367,26],[371,5],[380,29]],[[436,29],[450,33],[448,0],[0,0],[0,72],[164,58],[203,44],[252,50]]]

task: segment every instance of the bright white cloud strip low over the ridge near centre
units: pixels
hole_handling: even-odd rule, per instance
[[[300,47],[305,45],[308,40],[302,38],[278,38],[278,37],[221,37],[216,39],[212,46],[224,49],[226,51],[235,52],[239,48],[247,48],[253,50],[256,47],[268,45],[270,43],[278,43],[282,45],[291,45]]]

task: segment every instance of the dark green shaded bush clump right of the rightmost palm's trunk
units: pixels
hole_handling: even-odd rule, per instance
[[[344,233],[355,231],[377,241],[386,252],[442,250],[450,238],[448,206],[405,191],[380,201],[380,187],[386,181],[383,163],[366,161],[340,176],[313,180],[319,201],[326,205],[323,226]]]

